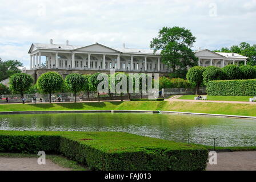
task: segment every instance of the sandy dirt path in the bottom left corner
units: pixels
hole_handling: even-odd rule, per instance
[[[0,157],[0,171],[69,171],[46,159],[45,165],[39,165],[37,158]]]

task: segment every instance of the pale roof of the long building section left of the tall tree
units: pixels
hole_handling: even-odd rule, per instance
[[[99,43],[96,43],[99,44]],[[92,44],[94,45],[94,44]],[[89,46],[92,46],[89,45]],[[104,46],[102,44],[99,44],[101,46]],[[74,51],[75,49],[89,47],[89,46],[71,46],[66,44],[41,44],[41,43],[33,43],[29,49],[29,53],[32,51],[33,46],[35,46],[37,49],[54,49],[54,50],[64,50],[64,51]],[[107,46],[104,46],[107,47]],[[133,53],[133,54],[154,54],[153,49],[133,49],[133,48],[111,48],[115,51],[121,52],[121,53]],[[157,51],[155,54],[160,54],[161,51]]]

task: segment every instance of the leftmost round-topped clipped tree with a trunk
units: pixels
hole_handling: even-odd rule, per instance
[[[33,77],[31,75],[27,75],[26,73],[15,73],[10,76],[10,89],[13,92],[18,92],[21,94],[23,98],[23,94],[30,89],[33,84]]]

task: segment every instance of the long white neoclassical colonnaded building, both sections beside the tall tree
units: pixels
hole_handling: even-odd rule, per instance
[[[47,71],[57,71],[65,78],[74,72],[109,73],[111,68],[122,72],[159,73],[159,76],[168,76],[171,69],[161,63],[160,52],[154,53],[152,49],[131,49],[125,45],[123,48],[110,48],[99,43],[71,46],[68,40],[66,44],[54,44],[51,39],[50,44],[31,44],[30,69],[24,69],[23,72],[33,75],[35,80]],[[199,59],[198,65],[215,65],[220,68],[227,64],[239,64],[239,61],[245,61],[246,64],[247,59],[237,53],[213,52],[208,49],[195,51],[195,56]]]

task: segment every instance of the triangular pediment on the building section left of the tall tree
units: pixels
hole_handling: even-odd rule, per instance
[[[77,48],[75,49],[75,51],[84,51],[84,52],[102,52],[102,53],[120,53],[119,51],[107,47],[107,46],[103,46],[102,44],[92,44],[90,46],[85,46],[85,47],[81,47],[81,48]]]

